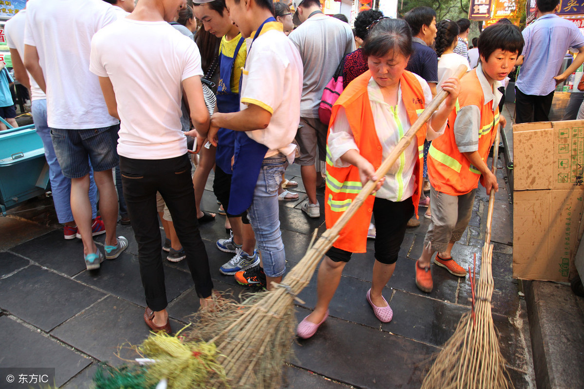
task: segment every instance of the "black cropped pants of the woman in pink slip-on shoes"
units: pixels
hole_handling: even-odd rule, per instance
[[[398,260],[398,253],[404,242],[408,220],[413,216],[412,197],[404,201],[390,201],[375,198],[373,217],[375,218],[375,259],[391,265]],[[348,262],[352,252],[331,247],[326,256],[335,262]]]

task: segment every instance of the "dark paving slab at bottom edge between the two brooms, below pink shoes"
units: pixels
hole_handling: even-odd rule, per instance
[[[308,314],[300,309],[300,320]],[[419,388],[437,349],[385,331],[329,318],[294,346],[294,365],[360,388]]]

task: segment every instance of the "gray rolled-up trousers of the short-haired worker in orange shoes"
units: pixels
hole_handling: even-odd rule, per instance
[[[432,221],[424,238],[424,247],[432,242],[432,249],[444,252],[448,243],[457,242],[463,236],[471,220],[475,190],[466,195],[451,196],[430,188]]]

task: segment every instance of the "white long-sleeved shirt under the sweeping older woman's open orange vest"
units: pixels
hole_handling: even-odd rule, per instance
[[[426,80],[418,75],[415,76],[422,86],[425,105],[427,107],[432,101],[432,91],[430,91]],[[381,143],[383,160],[385,160],[398,144],[399,140],[408,131],[412,123],[409,122],[408,112],[402,100],[401,85],[398,90],[397,107],[392,107],[383,100],[383,94],[381,94],[381,90],[373,77],[371,77],[367,84],[367,93],[369,94],[369,104],[373,113],[375,131]],[[446,123],[444,123],[442,129],[439,131],[432,129],[428,123],[426,139],[436,139],[444,133],[444,129],[446,129]],[[339,109],[335,122],[331,126],[326,144],[329,150],[329,158],[335,167],[342,168],[350,166],[350,164],[341,161],[340,157],[349,150],[354,149],[359,151],[359,147],[357,147],[354,141],[349,121],[347,121],[345,109],[342,107]],[[416,161],[418,161],[418,155],[418,143],[416,143],[416,140],[413,140],[385,175],[385,182],[381,186],[381,189],[377,191],[376,197],[390,201],[403,201],[413,196],[413,192],[415,191],[413,169],[415,168]]]

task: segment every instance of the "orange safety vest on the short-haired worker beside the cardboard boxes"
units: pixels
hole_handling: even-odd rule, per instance
[[[499,107],[493,112],[493,100],[485,104],[477,69],[468,72],[460,80],[461,93],[456,102],[456,109],[448,118],[444,134],[432,141],[428,152],[428,175],[434,189],[451,196],[460,196],[477,188],[481,172],[460,152],[454,137],[454,122],[461,107],[476,105],[481,111],[478,133],[478,153],[486,162],[489,150],[495,140],[499,125]]]

